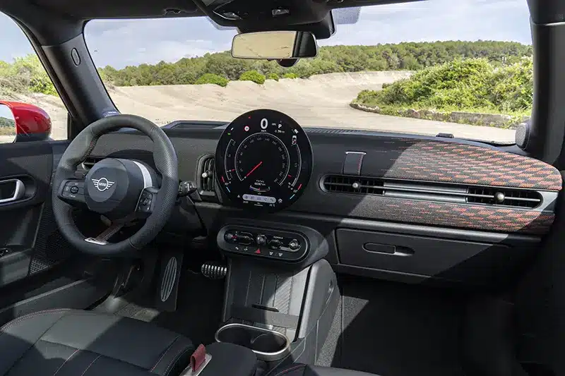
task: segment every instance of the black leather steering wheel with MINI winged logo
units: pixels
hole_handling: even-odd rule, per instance
[[[131,159],[105,158],[85,178],[76,171],[93,151],[101,135],[119,128],[135,128],[153,141],[157,173]],[[179,191],[177,153],[161,128],[140,116],[100,119],[79,133],[64,152],[53,179],[52,205],[59,230],[74,247],[95,255],[126,255],[152,241],[167,223]],[[73,221],[73,207],[88,207],[112,224],[95,238],[86,238]],[[119,243],[108,239],[135,219],[146,219],[136,234]]]

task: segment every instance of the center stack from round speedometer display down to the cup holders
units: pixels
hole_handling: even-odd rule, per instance
[[[338,306],[337,279],[323,259],[326,238],[308,226],[270,222],[266,215],[299,199],[313,165],[307,133],[273,110],[237,117],[216,147],[220,201],[241,208],[236,215],[247,218],[228,214],[213,220],[229,266],[224,325],[215,339],[253,351],[266,370],[286,362],[314,364]]]

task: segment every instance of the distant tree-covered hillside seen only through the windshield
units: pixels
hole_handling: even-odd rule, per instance
[[[261,75],[307,78],[324,73],[360,71],[417,71],[454,59],[486,58],[496,63],[512,63],[531,56],[532,47],[516,42],[406,42],[376,46],[321,47],[315,59],[302,59],[292,68],[281,68],[274,61],[233,59],[229,52],[180,59],[176,63],[161,61],[115,69],[101,68],[104,80],[118,86],[194,84],[204,74],[227,80],[239,80],[246,71]]]

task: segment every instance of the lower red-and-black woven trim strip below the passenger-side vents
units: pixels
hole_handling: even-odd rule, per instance
[[[379,219],[488,231],[547,234],[555,215],[534,210],[513,210],[478,205],[379,198]]]

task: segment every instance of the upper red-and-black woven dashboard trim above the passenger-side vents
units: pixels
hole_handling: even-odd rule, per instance
[[[386,178],[561,190],[561,174],[554,166],[522,155],[410,138],[396,138],[387,144],[382,154],[396,158],[388,169],[380,171]],[[375,172],[371,171],[371,175]]]

